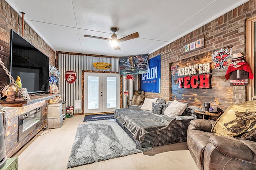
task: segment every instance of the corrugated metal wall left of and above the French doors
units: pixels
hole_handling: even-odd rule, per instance
[[[99,70],[94,68],[92,63],[111,63],[112,68]],[[59,90],[62,94],[62,101],[67,106],[74,106],[74,100],[82,100],[82,70],[119,72],[118,58],[92,57],[86,55],[72,55],[58,53],[58,70],[60,70]],[[76,72],[76,81],[72,84],[65,80],[66,71]],[[74,113],[82,113],[82,109],[74,110]]]

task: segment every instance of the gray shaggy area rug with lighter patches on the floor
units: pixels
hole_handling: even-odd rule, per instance
[[[78,125],[67,168],[142,152],[115,122]]]

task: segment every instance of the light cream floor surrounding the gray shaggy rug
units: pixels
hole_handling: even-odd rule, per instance
[[[40,132],[18,156],[19,170],[64,170],[84,115],[66,118],[61,128]],[[99,121],[94,121],[99,122]],[[69,170],[198,170],[187,144],[176,143],[155,147],[154,150],[114,158]]]

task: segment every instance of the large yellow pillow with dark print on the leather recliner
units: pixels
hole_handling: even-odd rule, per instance
[[[256,129],[256,101],[229,106],[217,119],[212,133],[219,136],[238,137]],[[253,133],[252,133],[253,135]]]

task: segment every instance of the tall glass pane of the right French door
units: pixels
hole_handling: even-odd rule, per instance
[[[116,77],[107,77],[107,108],[116,107],[116,84],[117,84]]]

